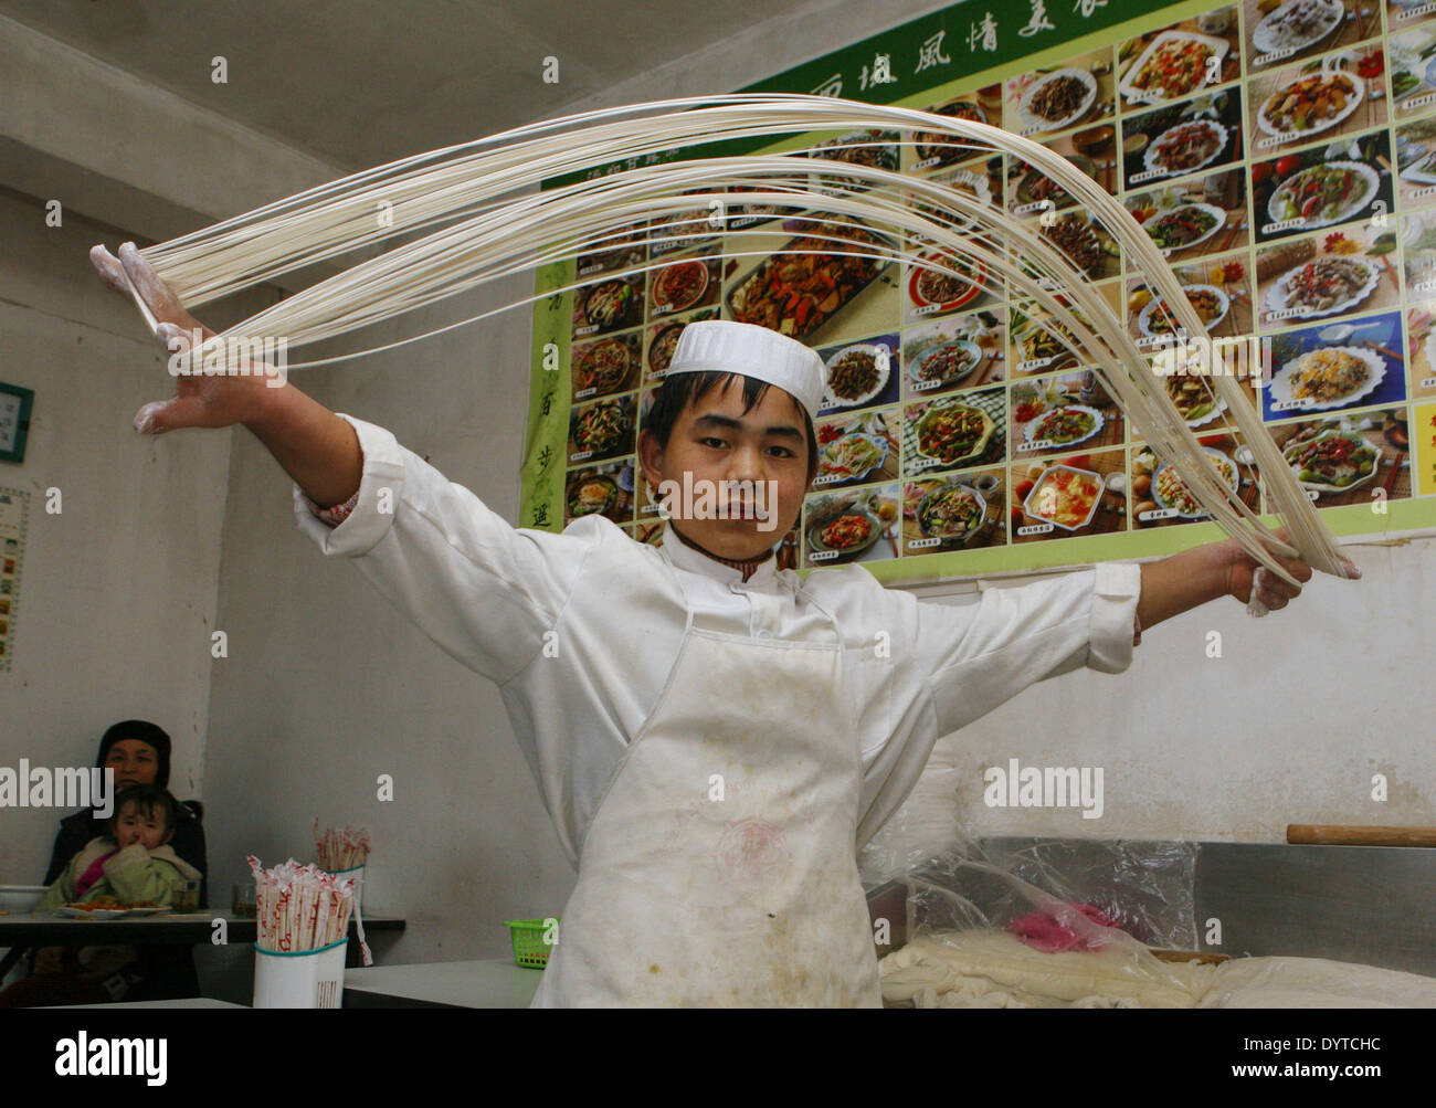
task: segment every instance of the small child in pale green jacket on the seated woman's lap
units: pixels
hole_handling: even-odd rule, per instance
[[[115,798],[106,834],[92,838],[70,858],[46,891],[40,911],[60,904],[89,904],[113,897],[121,904],[172,904],[185,881],[200,871],[175,854],[178,804],[158,785],[134,785]]]

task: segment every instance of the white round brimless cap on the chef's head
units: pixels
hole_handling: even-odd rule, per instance
[[[827,367],[797,339],[752,323],[699,320],[684,327],[668,375],[741,373],[777,385],[817,418],[827,389]]]

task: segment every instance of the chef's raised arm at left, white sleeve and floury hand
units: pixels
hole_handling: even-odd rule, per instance
[[[157,336],[175,349],[202,327],[132,244],[113,258],[90,251],[101,277],[149,306]],[[531,662],[579,580],[599,534],[518,531],[467,488],[448,481],[388,431],[330,412],[261,372],[180,376],[169,400],[148,403],[135,429],[243,423],[294,481],[299,525],[326,554],[343,554],[447,653],[503,683]],[[313,508],[343,511],[336,527]],[[592,534],[587,534],[592,531]]]

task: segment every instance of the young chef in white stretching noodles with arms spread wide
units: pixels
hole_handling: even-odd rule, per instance
[[[162,340],[198,327],[134,247],[121,260]],[[1124,670],[1143,627],[1245,601],[1255,565],[1216,543],[971,607],[860,567],[780,573],[823,385],[817,355],[775,332],[689,324],[640,435],[643,476],[719,502],[742,489],[774,515],[712,518],[675,497],[662,548],[597,515],[516,530],[389,432],[263,376],[180,377],[135,425],[244,423],[294,478],[302,530],[498,683],[579,871],[536,1006],[876,1006],[856,853],[936,738],[1044,677]],[[1297,593],[1261,588],[1271,609]]]

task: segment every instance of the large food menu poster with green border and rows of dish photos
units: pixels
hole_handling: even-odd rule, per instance
[[[1261,359],[1244,402],[1330,528],[1436,527],[1436,3],[958,4],[754,90],[919,108],[1067,158],[1152,235],[1208,333]],[[646,161],[719,148],[860,161],[1030,218],[1139,346],[1170,334],[1109,228],[1021,158],[872,129]],[[821,178],[801,211],[737,194],[727,218],[695,207],[635,224],[540,273],[540,291],[580,287],[536,310],[521,525],[597,512],[661,538],[635,481],[638,431],[682,329],[731,319],[791,334],[829,367],[817,478],[784,565],[862,563],[905,583],[1219,537],[1063,329],[997,271],[833,253],[833,238],[896,245],[890,228],[831,221],[824,189],[844,188],[862,185]],[[955,211],[923,211],[962,228]],[[804,278],[824,296],[794,296]],[[1167,389],[1234,494],[1271,512],[1226,402],[1190,376]]]

